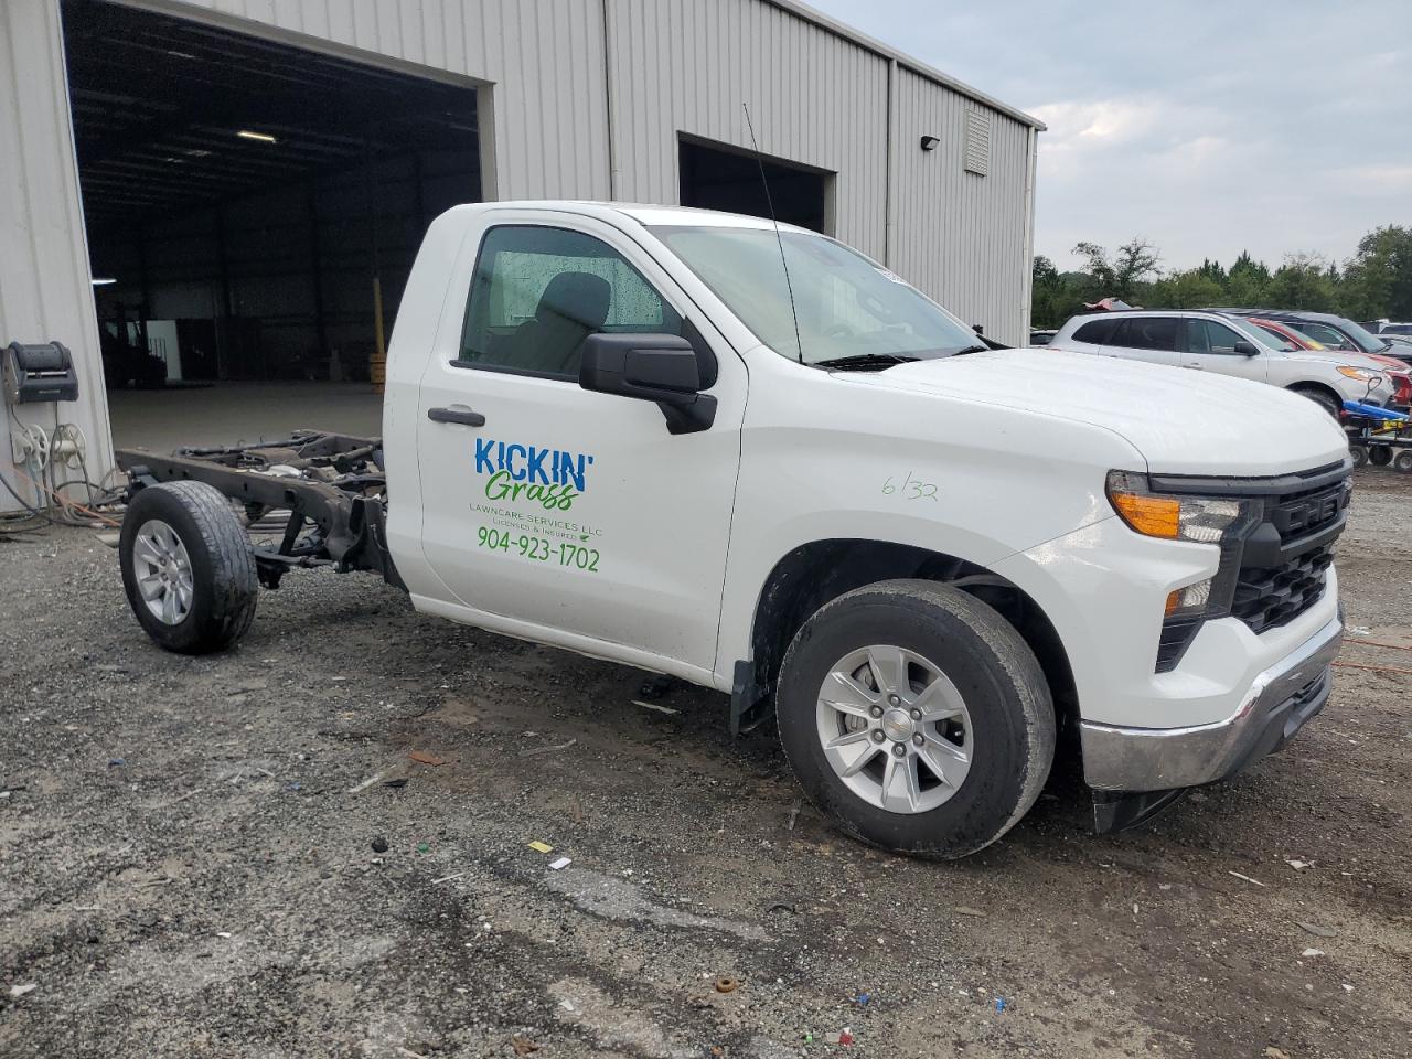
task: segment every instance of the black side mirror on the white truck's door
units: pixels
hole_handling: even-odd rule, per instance
[[[705,431],[716,419],[716,398],[700,393],[696,350],[676,335],[589,335],[582,347],[579,385],[657,401],[672,433]]]

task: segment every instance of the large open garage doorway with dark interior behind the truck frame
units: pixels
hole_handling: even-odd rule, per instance
[[[481,196],[476,89],[64,1],[119,445],[376,432],[426,225]]]

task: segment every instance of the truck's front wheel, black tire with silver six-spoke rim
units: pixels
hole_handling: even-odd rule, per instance
[[[822,607],[777,688],[779,738],[810,801],[898,853],[964,857],[1034,805],[1055,712],[1034,652],[973,596],[891,580]]]

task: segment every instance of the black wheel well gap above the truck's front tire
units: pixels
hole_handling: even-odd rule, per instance
[[[847,592],[898,578],[955,585],[998,611],[1035,652],[1060,729],[1077,719],[1077,692],[1063,641],[1043,609],[1012,580],[977,562],[916,545],[833,538],[791,549],[765,579],[750,627],[750,658],[736,662],[733,730],[754,727],[770,716],[771,689],[785,651],[810,614]]]

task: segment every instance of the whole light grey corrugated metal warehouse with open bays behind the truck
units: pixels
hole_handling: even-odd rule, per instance
[[[369,401],[453,203],[762,213],[741,104],[781,220],[1024,340],[1042,126],[792,0],[4,0],[0,346],[64,343],[79,394],[0,404],[0,474],[34,496],[72,422],[100,477],[110,409]]]

